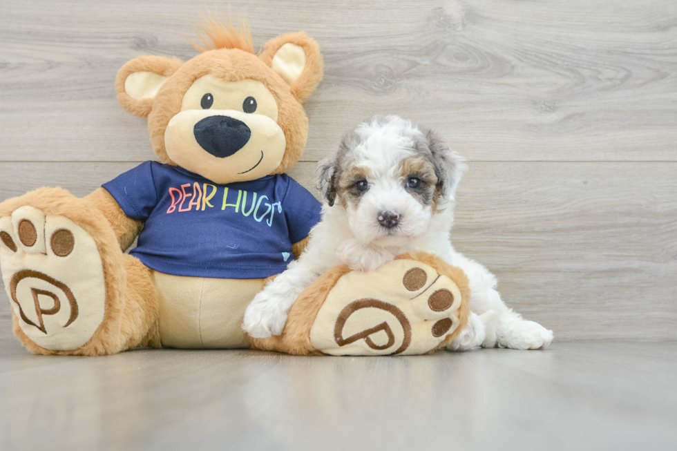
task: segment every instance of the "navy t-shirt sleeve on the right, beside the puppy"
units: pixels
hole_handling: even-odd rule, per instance
[[[283,209],[292,243],[299,242],[307,237],[310,229],[321,220],[322,204],[313,197],[310,191],[303,188],[291,177],[289,177],[289,186],[283,202]]]

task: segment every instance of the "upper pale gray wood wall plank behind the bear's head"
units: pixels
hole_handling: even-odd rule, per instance
[[[229,2],[257,45],[307,30],[325,80],[305,160],[374,113],[439,128],[471,160],[675,161],[677,2]],[[222,1],[0,1],[0,161],[153,157],[117,106],[117,69],[195,51]],[[274,19],[272,19],[274,17]]]

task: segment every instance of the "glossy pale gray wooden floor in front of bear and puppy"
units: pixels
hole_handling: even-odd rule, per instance
[[[675,450],[677,342],[396,358],[28,355],[0,340],[2,450]]]

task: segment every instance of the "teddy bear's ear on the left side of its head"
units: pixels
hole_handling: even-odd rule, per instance
[[[181,66],[176,58],[137,57],[117,71],[117,102],[135,116],[148,117],[160,86]]]

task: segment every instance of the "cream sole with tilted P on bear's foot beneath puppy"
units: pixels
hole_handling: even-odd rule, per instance
[[[457,329],[461,291],[416,260],[352,271],[330,291],[310,331],[325,354],[425,354]]]

